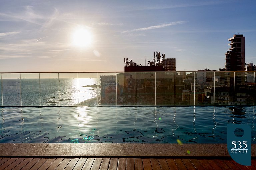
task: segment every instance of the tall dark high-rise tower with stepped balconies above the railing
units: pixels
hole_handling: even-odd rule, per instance
[[[231,47],[226,52],[225,71],[244,71],[245,37],[243,34],[235,34],[231,41]]]

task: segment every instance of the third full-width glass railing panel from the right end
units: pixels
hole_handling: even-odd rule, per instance
[[[214,104],[214,71],[195,73],[195,105]]]

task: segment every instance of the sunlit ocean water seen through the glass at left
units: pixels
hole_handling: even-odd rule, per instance
[[[2,79],[0,105],[72,106],[100,95],[97,84],[97,78]]]

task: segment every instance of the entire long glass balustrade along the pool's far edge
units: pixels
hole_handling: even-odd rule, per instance
[[[0,73],[0,106],[255,105],[255,72]]]

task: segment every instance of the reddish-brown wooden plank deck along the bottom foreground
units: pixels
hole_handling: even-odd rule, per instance
[[[0,157],[0,170],[256,170],[256,160],[243,166],[229,158],[160,157]]]

